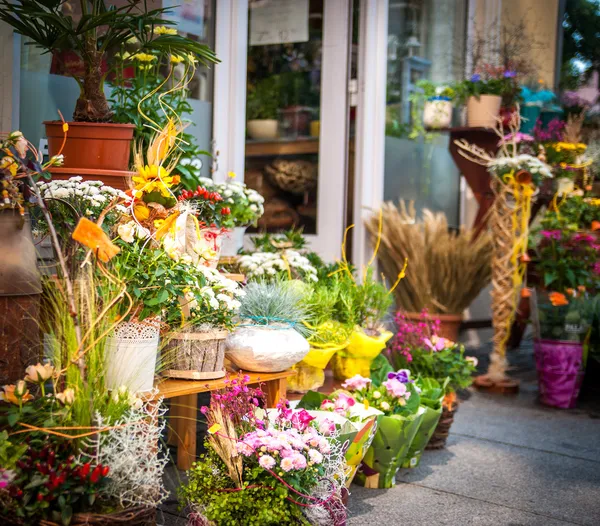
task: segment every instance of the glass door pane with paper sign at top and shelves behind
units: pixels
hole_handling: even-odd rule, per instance
[[[323,2],[249,7],[245,182],[265,197],[260,230],[316,233]]]

